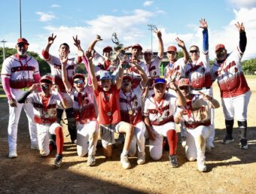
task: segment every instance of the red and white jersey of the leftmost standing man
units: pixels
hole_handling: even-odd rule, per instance
[[[2,65],[1,77],[10,78],[10,86],[14,89],[32,86],[35,74],[39,74],[38,62],[31,56],[9,56]]]

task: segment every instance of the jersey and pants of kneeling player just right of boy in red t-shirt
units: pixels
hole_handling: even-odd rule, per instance
[[[124,93],[120,90],[119,106],[122,121],[134,126],[133,140],[130,144],[129,155],[136,154],[136,144],[140,153],[145,152],[145,123],[142,119],[142,94],[143,89],[139,84],[131,92]]]

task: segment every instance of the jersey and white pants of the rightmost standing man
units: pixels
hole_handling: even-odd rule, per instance
[[[221,103],[225,120],[236,119],[244,121],[247,119],[247,107],[251,96],[250,88],[242,73],[241,51],[239,47],[227,56],[227,59],[218,64],[214,62],[211,68],[212,80],[218,81],[221,90]]]

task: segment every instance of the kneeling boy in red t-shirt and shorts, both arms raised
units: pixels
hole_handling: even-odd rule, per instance
[[[94,66],[91,57],[88,55],[89,72],[93,83],[94,95],[96,104],[99,108],[98,122],[100,124],[100,132],[102,137],[102,147],[105,156],[111,157],[112,147],[114,144],[114,132],[125,133],[125,140],[123,145],[123,152],[120,156],[120,162],[123,168],[131,167],[128,159],[128,150],[130,142],[133,139],[133,126],[130,123],[121,121],[119,108],[119,93],[123,80],[123,68],[121,63],[118,66],[118,76],[116,83],[111,85],[111,73],[109,71],[102,71],[99,77],[100,85],[94,73]]]

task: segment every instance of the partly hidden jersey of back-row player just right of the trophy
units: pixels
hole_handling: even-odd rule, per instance
[[[131,61],[128,60],[127,62],[131,62]],[[140,60],[138,60],[138,62],[139,62],[139,65],[142,67],[143,71],[145,71],[145,74],[147,74],[148,77],[149,77],[148,67],[145,64],[145,62],[142,62]],[[135,67],[125,69],[124,74],[131,74],[132,75],[132,77],[133,77],[133,88],[136,88],[136,86],[138,86],[139,83],[142,80],[142,77],[139,74],[139,70]]]

